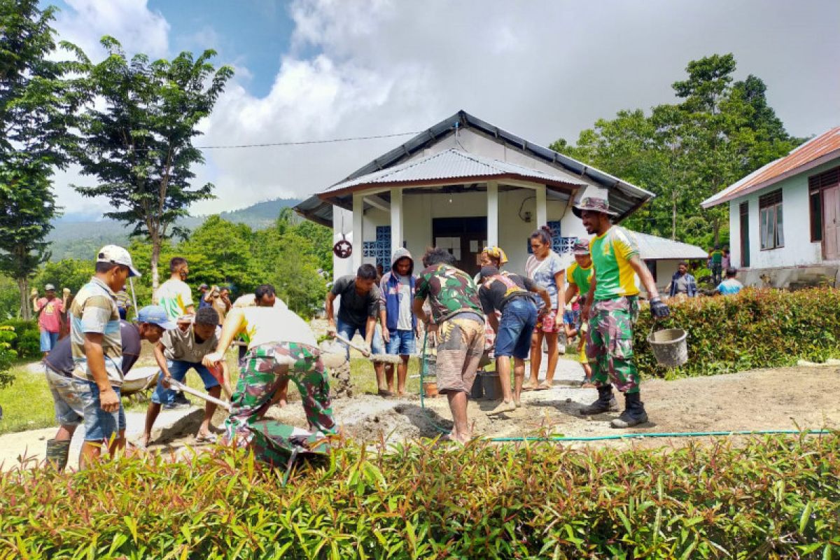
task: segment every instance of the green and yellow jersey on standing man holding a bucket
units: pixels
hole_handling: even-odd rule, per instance
[[[638,296],[636,272],[630,259],[638,256],[638,241],[633,232],[612,226],[589,243],[595,268],[595,301],[622,296]]]

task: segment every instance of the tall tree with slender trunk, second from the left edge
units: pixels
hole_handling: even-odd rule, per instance
[[[77,152],[82,173],[99,184],[75,188],[83,196],[107,196],[114,210],[105,215],[150,241],[156,291],[162,243],[186,235],[176,220],[193,202],[213,197],[211,183],[192,186],[192,165],[204,161],[192,139],[234,71],[227,65],[216,70],[209,62],[213,50],[197,59],[182,52],[171,61],[150,61],[146,55],[127,59],[112,37],[102,45],[108,58],[90,67],[90,86],[103,103],[82,115]]]

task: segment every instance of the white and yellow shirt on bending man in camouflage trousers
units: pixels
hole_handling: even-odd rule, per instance
[[[283,307],[244,307],[241,311],[236,333],[248,337],[248,348],[277,343],[318,347],[312,329],[294,311]]]

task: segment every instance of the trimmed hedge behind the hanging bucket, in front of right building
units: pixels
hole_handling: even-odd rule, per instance
[[[645,307],[634,339],[643,376],[725,374],[840,356],[840,290],[749,288],[736,296],[698,297],[670,307],[671,318],[654,328],[688,332],[688,363],[671,370],[656,364],[647,341],[654,321]]]

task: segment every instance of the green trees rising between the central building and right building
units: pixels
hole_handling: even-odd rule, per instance
[[[692,60],[673,84],[678,102],[649,115],[622,111],[582,131],[576,145],[552,147],[657,195],[628,227],[704,247],[722,242],[726,208],[704,211],[700,202],[802,141],[769,107],[764,82],[734,81],[735,69],[731,54]]]

